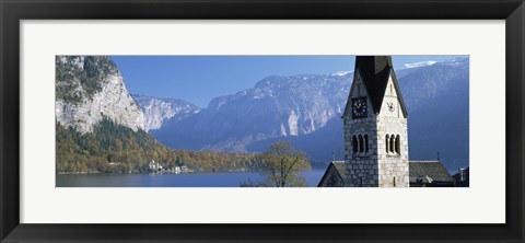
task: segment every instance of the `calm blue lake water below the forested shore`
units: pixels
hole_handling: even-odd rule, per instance
[[[303,172],[307,186],[317,186],[324,173]],[[258,172],[57,175],[57,187],[238,187],[248,180],[256,183],[264,177]]]

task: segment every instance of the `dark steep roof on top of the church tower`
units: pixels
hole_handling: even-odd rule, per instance
[[[392,74],[392,80],[396,92],[398,93],[402,114],[405,117],[408,117],[390,56],[357,56],[354,73],[355,76],[361,76],[361,80],[364,83],[366,93],[372,102],[372,107],[376,114],[381,111],[383,97],[385,96],[386,86],[388,84],[388,77]]]

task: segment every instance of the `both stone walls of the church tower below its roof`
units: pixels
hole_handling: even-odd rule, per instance
[[[375,114],[370,97],[368,99],[366,118],[352,119],[350,111],[343,116],[345,164],[347,182],[351,187],[408,187],[408,132],[400,100],[394,88],[392,77],[388,80],[383,104]],[[352,99],[369,96],[359,74],[355,74],[350,90],[348,104]],[[353,152],[352,136],[368,135],[369,152]],[[398,147],[386,144],[386,136],[398,138]]]

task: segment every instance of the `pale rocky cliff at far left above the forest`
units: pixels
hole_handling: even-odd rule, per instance
[[[136,131],[144,129],[144,115],[108,57],[57,56],[55,86],[55,114],[62,126],[85,134],[106,117]]]

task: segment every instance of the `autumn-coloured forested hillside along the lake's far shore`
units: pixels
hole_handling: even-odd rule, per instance
[[[254,154],[170,150],[143,130],[107,118],[93,132],[56,126],[57,173],[145,173],[152,160],[166,169],[187,165],[197,172],[257,170]]]

